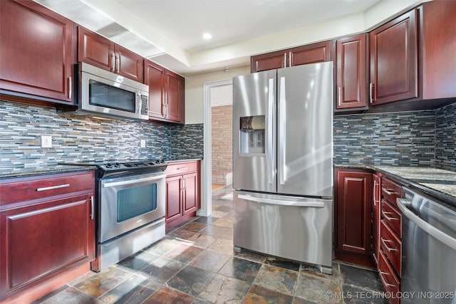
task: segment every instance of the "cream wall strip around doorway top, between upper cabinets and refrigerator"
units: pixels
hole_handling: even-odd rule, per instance
[[[192,125],[204,122],[204,83],[227,80],[235,76],[250,73],[250,66],[231,68],[227,72],[205,73],[185,78],[185,124]]]

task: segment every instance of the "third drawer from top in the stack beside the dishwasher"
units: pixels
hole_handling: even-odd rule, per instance
[[[390,261],[394,270],[400,276],[400,256],[402,255],[402,243],[391,231],[385,221],[380,224],[380,248]]]

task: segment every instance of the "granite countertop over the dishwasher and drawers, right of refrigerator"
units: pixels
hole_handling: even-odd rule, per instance
[[[336,168],[371,169],[406,187],[419,189],[456,206],[456,172],[433,167],[394,167],[372,164],[334,164]]]

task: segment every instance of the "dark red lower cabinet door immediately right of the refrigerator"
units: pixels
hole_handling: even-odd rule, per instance
[[[337,248],[371,255],[372,174],[337,172]]]

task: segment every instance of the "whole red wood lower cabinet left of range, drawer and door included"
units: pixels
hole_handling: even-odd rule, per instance
[[[95,258],[94,173],[0,181],[0,302],[28,303]]]

